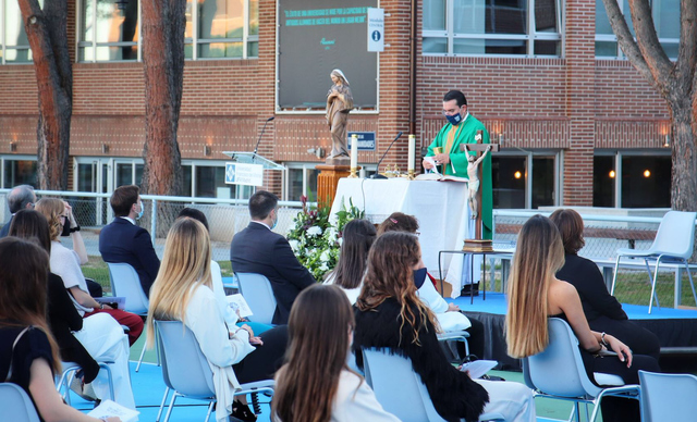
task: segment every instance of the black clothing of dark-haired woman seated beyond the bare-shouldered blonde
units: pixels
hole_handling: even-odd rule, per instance
[[[661,345],[656,334],[627,319],[622,305],[608,293],[602,274],[592,261],[566,253],[557,277],[576,287],[590,330],[612,334],[637,355],[659,358]]]

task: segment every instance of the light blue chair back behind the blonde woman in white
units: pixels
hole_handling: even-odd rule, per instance
[[[194,333],[181,321],[155,320],[164,384],[192,398],[216,396],[213,373]]]

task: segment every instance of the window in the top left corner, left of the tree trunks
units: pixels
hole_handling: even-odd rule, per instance
[[[39,0],[44,5],[44,1]],[[0,63],[30,63],[32,49],[17,0],[0,0]]]

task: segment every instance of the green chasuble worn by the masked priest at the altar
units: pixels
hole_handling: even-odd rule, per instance
[[[462,127],[461,127],[462,126]],[[451,125],[450,123],[445,124],[443,128],[440,129],[438,135],[436,135],[436,139],[428,147],[428,153],[426,157],[432,157],[433,148],[442,147],[445,148],[445,144],[448,142],[448,133],[450,132]],[[484,139],[481,139],[482,144],[489,144],[489,132],[484,126],[481,122],[475,119],[472,114],[467,115],[464,122],[461,122],[455,127],[455,137],[453,139],[453,146],[450,150],[450,162],[445,165],[444,174],[450,174],[458,177],[467,177],[467,153],[460,150],[460,146],[462,144],[477,144],[475,140],[475,136],[477,135],[477,131],[484,132]],[[444,151],[449,152],[449,151]],[[473,156],[476,154],[475,151],[470,151]],[[481,167],[481,184],[479,188],[481,189],[481,223],[482,231],[481,237],[485,239],[491,239],[491,228],[493,227],[493,188],[491,186],[491,154],[487,154],[487,158],[484,160],[484,166]],[[453,173],[453,166],[455,167],[455,172]]]

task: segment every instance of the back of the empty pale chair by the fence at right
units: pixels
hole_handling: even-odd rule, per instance
[[[669,211],[650,247],[656,255],[688,259],[695,249],[695,218],[697,212]]]

